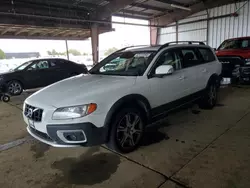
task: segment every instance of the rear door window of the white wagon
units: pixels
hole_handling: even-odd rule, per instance
[[[194,48],[182,49],[183,68],[193,67],[201,64],[202,62],[198,59],[196,50]]]

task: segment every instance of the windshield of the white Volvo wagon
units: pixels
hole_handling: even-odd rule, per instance
[[[142,76],[154,55],[148,51],[114,53],[93,67],[90,74]]]

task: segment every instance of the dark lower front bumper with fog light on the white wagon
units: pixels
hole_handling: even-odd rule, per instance
[[[95,146],[105,143],[107,130],[92,123],[47,125],[47,133],[27,126],[27,131],[37,140],[54,147]]]

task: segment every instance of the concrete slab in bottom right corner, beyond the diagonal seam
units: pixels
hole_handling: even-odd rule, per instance
[[[190,187],[250,187],[250,114],[212,142],[174,179]]]

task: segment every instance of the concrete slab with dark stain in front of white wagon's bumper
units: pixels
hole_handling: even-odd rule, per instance
[[[36,141],[0,153],[3,188],[158,187],[164,177],[101,147],[52,148]]]

